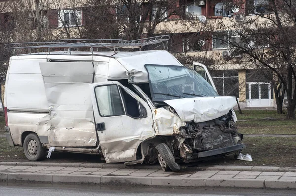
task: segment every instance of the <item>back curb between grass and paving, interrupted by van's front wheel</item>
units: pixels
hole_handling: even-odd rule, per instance
[[[52,166],[52,167],[89,167],[89,168],[118,168],[118,169],[161,169],[156,165],[124,165],[123,163],[54,163],[54,162],[0,162],[7,166]],[[296,172],[296,167],[269,167],[269,166],[240,166],[240,165],[213,165],[213,166],[182,166],[185,171],[200,170],[231,170],[231,171],[273,171]]]

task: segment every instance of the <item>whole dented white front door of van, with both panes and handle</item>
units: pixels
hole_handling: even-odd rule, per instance
[[[90,84],[90,89],[99,145],[106,162],[137,160],[138,146],[155,135],[152,110],[117,81]]]

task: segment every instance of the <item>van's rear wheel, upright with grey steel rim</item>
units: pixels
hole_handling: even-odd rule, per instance
[[[39,161],[46,157],[46,148],[42,146],[39,137],[35,133],[26,136],[23,148],[27,159],[30,161]]]

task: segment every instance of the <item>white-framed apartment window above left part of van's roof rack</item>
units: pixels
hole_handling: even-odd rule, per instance
[[[81,25],[81,19],[81,10],[59,10],[59,27],[74,27],[76,25]]]

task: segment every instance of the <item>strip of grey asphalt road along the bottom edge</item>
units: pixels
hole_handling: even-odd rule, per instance
[[[47,186],[47,187],[46,187]],[[0,186],[1,196],[295,196],[296,190],[59,185]]]

